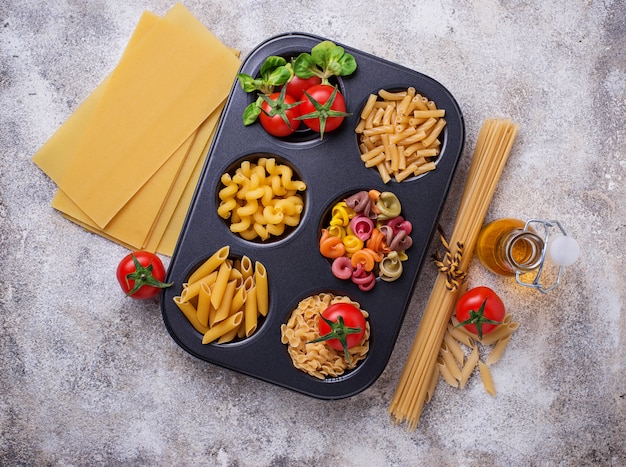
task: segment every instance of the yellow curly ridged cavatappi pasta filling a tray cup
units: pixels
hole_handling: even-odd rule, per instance
[[[300,223],[304,209],[300,192],[306,184],[294,179],[288,165],[271,157],[243,161],[234,174],[223,174],[221,182],[217,213],[230,221],[231,232],[246,240],[280,236]]]

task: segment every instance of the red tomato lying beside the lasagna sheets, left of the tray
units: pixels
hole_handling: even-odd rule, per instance
[[[136,251],[126,255],[117,266],[117,280],[124,293],[143,300],[157,295],[161,289],[171,286],[162,282],[165,268],[161,259],[148,251]]]

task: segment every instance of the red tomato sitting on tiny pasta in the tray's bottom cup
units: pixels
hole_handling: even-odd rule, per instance
[[[335,303],[322,312],[317,326],[320,337],[311,342],[324,341],[335,350],[343,350],[349,362],[348,349],[361,343],[366,322],[361,310],[354,305]]]

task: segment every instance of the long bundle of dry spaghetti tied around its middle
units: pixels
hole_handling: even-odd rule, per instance
[[[508,119],[488,119],[478,134],[465,190],[448,242],[448,268],[445,274],[437,276],[389,406],[394,422],[406,421],[409,429],[417,427],[431,390],[433,375],[436,375],[437,354],[460,289],[455,277],[462,282],[467,271],[517,128],[517,124]]]

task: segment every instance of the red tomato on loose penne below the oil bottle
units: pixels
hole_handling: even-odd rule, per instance
[[[465,329],[477,334],[479,339],[502,324],[504,314],[504,303],[489,287],[468,290],[456,304],[458,326],[465,326]]]

